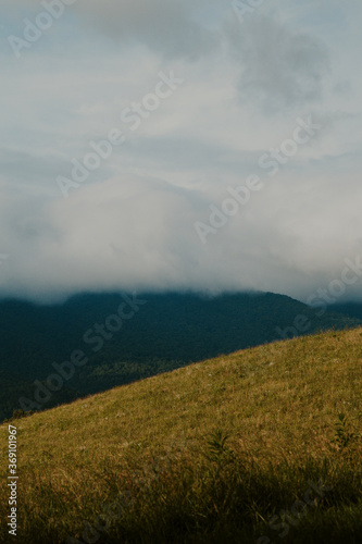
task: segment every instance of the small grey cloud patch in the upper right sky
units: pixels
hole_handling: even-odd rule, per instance
[[[233,21],[226,32],[241,69],[241,100],[285,113],[323,98],[329,52],[321,40],[263,15],[242,27]]]

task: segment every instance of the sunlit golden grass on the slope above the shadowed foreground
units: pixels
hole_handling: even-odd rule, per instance
[[[24,542],[48,542],[48,531],[53,542],[79,536],[82,519],[112,500],[152,457],[202,463],[205,437],[215,429],[260,470],[322,458],[338,465],[337,417],[346,413],[348,430],[361,432],[361,392],[362,329],[355,329],[202,361],[16,420],[20,534]],[[7,459],[7,424],[0,434]],[[361,462],[361,441],[349,455]],[[0,475],[4,519],[7,462]]]

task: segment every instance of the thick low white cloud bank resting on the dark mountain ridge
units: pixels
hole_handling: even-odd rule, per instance
[[[1,214],[0,240],[10,254],[1,294],[47,299],[79,290],[262,288],[305,298],[339,277],[345,258],[361,255],[362,220],[350,214],[362,197],[359,181],[348,189],[341,198],[337,180],[290,186],[283,175],[205,245],[195,222],[208,223],[210,203],[221,208],[212,190],[127,175],[42,207],[17,197],[2,207],[11,212]],[[349,293],[362,293],[361,285]]]

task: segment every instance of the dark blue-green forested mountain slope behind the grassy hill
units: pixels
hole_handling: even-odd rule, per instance
[[[128,302],[118,294],[103,294],[75,296],[54,306],[2,301],[0,372],[9,376],[0,385],[0,419],[20,408],[21,397],[30,400],[29,409],[49,408],[192,361],[362,323],[337,313],[319,319],[305,305],[271,293],[215,298],[142,294],[125,299]],[[43,403],[35,400],[45,381],[59,374],[57,364],[70,361],[74,351],[82,351],[87,362],[73,367],[70,380],[60,379],[58,391],[41,393]],[[41,385],[34,385],[35,380]]]

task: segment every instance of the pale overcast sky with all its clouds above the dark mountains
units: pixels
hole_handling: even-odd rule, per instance
[[[360,0],[0,15],[1,298],[362,300]]]

